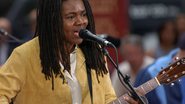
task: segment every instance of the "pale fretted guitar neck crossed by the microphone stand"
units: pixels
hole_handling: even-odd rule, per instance
[[[155,89],[156,87],[160,86],[159,81],[157,80],[157,78],[153,78],[147,82],[145,82],[144,84],[140,85],[139,87],[137,87],[135,90],[136,92],[139,94],[139,96],[144,96],[145,94],[147,94],[148,92],[152,91],[153,89]],[[114,100],[112,102],[112,104],[128,104],[123,97],[124,96],[129,96],[128,94],[122,95],[121,97],[119,97],[118,99]]]

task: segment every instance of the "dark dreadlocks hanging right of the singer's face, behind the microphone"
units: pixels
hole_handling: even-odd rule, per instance
[[[84,3],[87,18],[89,21],[89,24],[86,28],[92,33],[96,34],[94,16],[92,14],[90,4],[88,0],[82,1]],[[95,69],[97,80],[99,82],[98,76],[103,76],[103,74],[108,73],[108,70],[105,67],[105,59],[101,51],[101,47],[95,42],[83,40],[82,44],[80,44],[80,48],[82,49],[85,55],[86,65],[89,67],[89,69]]]

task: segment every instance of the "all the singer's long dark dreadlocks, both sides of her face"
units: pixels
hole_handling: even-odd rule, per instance
[[[54,90],[54,75],[60,76],[64,82],[64,75],[60,70],[60,63],[64,70],[70,73],[70,52],[67,49],[66,37],[63,30],[62,4],[67,0],[39,0],[37,8],[37,25],[35,37],[39,38],[40,59],[42,73],[46,80],[52,79]],[[87,12],[89,24],[87,29],[95,33],[95,24],[92,10],[88,0],[82,0]],[[79,47],[82,49],[86,65],[96,70],[96,76],[107,74],[105,59],[97,43],[83,41]],[[90,51],[89,51],[90,50]],[[99,80],[98,80],[99,81]]]

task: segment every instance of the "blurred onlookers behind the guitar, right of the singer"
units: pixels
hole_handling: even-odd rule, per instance
[[[130,75],[130,82],[138,87],[156,77],[160,71],[182,57],[185,57],[185,15],[162,22],[156,32],[149,35],[129,34],[121,39],[120,52],[123,62],[119,64],[122,74]],[[136,38],[136,39],[133,39]],[[138,41],[142,41],[141,43]],[[182,62],[183,64],[183,62]],[[136,67],[137,66],[137,67]],[[177,70],[182,70],[184,66]],[[175,69],[174,69],[175,70]],[[172,72],[174,73],[174,72]],[[175,76],[175,75],[174,75]],[[170,77],[174,77],[170,76]],[[165,78],[168,78],[166,76]],[[117,71],[111,74],[112,84],[117,96],[127,92]],[[146,94],[149,104],[185,104],[184,79],[162,85]],[[149,86],[151,87],[151,86]]]

